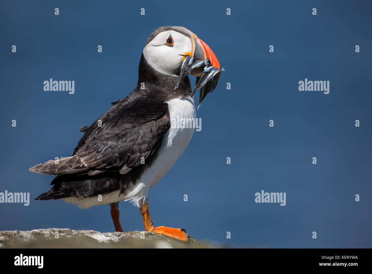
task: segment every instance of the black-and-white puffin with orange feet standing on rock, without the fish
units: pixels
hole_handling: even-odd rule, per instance
[[[177,116],[196,119],[189,77],[180,77],[186,57],[207,60],[221,69],[211,48],[189,29],[155,29],[142,51],[134,90],[80,129],[84,135],[70,157],[29,169],[56,176],[52,188],[35,200],[61,199],[80,208],[109,204],[117,232],[123,232],[119,201],[130,201],[140,209],[145,231],[187,241],[184,229],[154,226],[147,198],[148,190],[176,163],[194,132],[176,125]],[[200,77],[201,69],[190,74]]]

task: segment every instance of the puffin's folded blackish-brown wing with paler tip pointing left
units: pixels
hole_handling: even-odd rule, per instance
[[[169,128],[166,103],[127,97],[86,129],[71,157],[38,164],[30,171],[54,175],[106,171],[125,174],[151,162]]]

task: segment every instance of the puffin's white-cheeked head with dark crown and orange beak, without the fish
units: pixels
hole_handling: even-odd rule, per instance
[[[206,60],[221,71],[217,57],[205,42],[183,26],[163,26],[153,31],[143,50],[148,64],[157,72],[179,76],[185,56]],[[202,69],[193,69],[191,75],[201,76]]]

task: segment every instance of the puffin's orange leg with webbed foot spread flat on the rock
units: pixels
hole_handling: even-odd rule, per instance
[[[167,237],[174,238],[177,240],[182,240],[187,242],[187,237],[184,233],[185,229],[175,229],[173,227],[158,226],[154,227],[153,221],[151,220],[150,213],[148,212],[148,204],[140,207],[140,212],[142,215],[143,225],[146,231],[163,234]]]

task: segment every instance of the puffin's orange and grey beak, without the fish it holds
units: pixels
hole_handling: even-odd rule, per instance
[[[206,60],[209,58],[211,65],[217,67],[219,72],[221,72],[221,66],[219,65],[218,59],[216,55],[213,53],[211,48],[203,42],[201,39],[196,36],[196,34],[191,35],[191,42],[192,42],[192,57],[196,57],[201,60]],[[198,71],[194,69],[191,72],[192,76],[201,76],[202,70]]]

